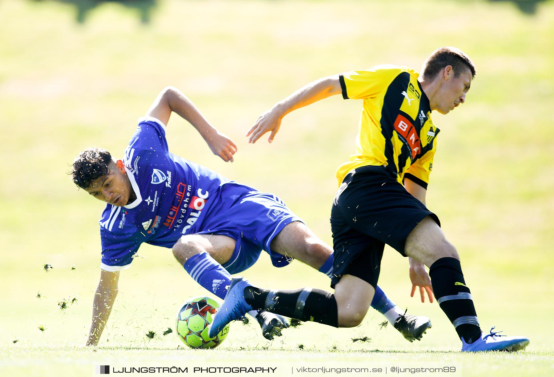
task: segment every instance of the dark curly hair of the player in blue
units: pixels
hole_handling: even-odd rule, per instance
[[[73,182],[82,189],[90,187],[93,180],[110,173],[110,152],[103,148],[89,148],[73,160]]]

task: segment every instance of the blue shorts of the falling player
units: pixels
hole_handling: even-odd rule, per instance
[[[275,267],[284,267],[292,259],[271,250],[271,241],[286,225],[302,221],[283,200],[271,193],[250,191],[234,199],[227,209],[218,211],[194,234],[219,234],[237,243],[233,255],[223,267],[231,275],[252,266],[261,250],[268,252]],[[302,221],[303,222],[303,221]]]

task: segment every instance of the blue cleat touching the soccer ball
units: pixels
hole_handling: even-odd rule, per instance
[[[242,276],[233,278],[225,300],[213,317],[212,323],[209,325],[209,337],[213,338],[227,326],[227,324],[235,319],[244,317],[244,314],[252,310],[252,306],[246,303],[244,299],[244,288],[250,287],[252,284]]]

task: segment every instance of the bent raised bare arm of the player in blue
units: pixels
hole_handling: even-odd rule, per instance
[[[158,118],[165,125],[170,120],[171,112],[176,112],[187,120],[202,135],[213,154],[225,162],[233,162],[233,154],[237,146],[216,127],[204,118],[200,110],[176,87],[168,86],[156,97],[156,100],[146,112],[146,116]]]

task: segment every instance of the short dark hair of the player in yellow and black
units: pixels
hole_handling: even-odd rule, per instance
[[[460,49],[455,47],[441,47],[435,50],[425,63],[423,63],[423,77],[428,80],[434,80],[437,74],[445,66],[452,65],[454,77],[458,78],[464,67],[471,71],[471,78],[475,77],[475,65]]]

